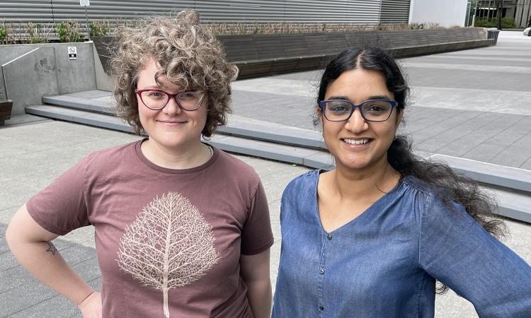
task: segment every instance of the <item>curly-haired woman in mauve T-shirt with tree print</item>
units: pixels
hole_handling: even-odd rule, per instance
[[[258,175],[201,136],[225,124],[228,64],[198,13],[118,31],[120,117],[146,139],[91,153],[22,206],[18,261],[84,317],[268,317],[268,203]],[[50,241],[95,228],[101,292]]]

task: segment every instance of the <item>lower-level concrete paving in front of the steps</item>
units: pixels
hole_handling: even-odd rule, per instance
[[[137,140],[118,131],[81,124],[39,120],[0,129],[0,317],[81,317],[76,307],[35,281],[6,247],[4,232],[8,221],[30,196],[50,184],[91,151]],[[306,167],[259,158],[237,156],[260,175],[268,196],[275,244],[271,249],[271,280],[275,282],[280,254],[280,196],[282,190]],[[507,221],[510,237],[504,241],[531,264],[531,225]],[[74,230],[55,240],[55,245],[71,266],[93,286],[101,288],[96,261],[93,228]],[[438,296],[435,317],[477,317],[471,303],[449,292]]]

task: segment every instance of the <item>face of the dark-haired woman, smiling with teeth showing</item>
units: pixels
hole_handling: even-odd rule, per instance
[[[345,71],[326,88],[325,100],[348,100],[359,105],[365,100],[394,100],[385,79],[377,71],[353,69]],[[367,122],[357,108],[345,122],[329,122],[320,113],[323,136],[338,167],[349,170],[370,169],[387,165],[387,149],[391,146],[401,119],[397,108],[385,122]]]

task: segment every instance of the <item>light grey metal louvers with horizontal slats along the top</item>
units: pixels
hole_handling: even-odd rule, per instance
[[[184,8],[199,11],[206,22],[378,23],[380,0],[91,0],[89,20],[168,15]],[[7,0],[0,2],[0,23],[52,23],[85,19],[79,0]],[[407,21],[406,21],[407,22]]]

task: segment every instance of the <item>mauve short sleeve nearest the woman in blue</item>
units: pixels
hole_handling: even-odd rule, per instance
[[[248,217],[241,231],[241,254],[258,254],[273,245],[268,199],[262,183],[258,182],[251,200]]]

